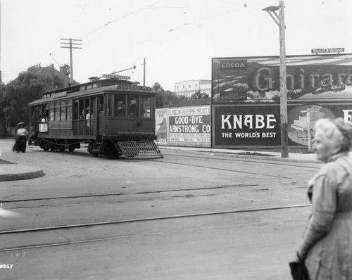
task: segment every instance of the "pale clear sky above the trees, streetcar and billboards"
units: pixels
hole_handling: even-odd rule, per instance
[[[352,53],[352,0],[284,0],[286,54]],[[211,79],[211,58],[279,56],[277,0],[0,0],[0,70],[7,83],[32,65],[70,65],[80,83],[128,68],[132,82]]]

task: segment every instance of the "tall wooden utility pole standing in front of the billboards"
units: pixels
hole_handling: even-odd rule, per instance
[[[279,10],[279,15],[276,11]],[[284,25],[284,1],[279,1],[279,6],[263,8],[279,26],[280,34],[280,118],[281,118],[281,157],[288,158],[287,135],[287,81],[286,81],[286,44]]]

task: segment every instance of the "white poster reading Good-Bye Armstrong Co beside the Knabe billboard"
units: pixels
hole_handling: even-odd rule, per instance
[[[170,143],[210,146],[210,106],[169,108]]]

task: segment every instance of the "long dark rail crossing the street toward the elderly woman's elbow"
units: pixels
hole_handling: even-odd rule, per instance
[[[118,221],[110,221],[110,222],[67,224],[67,225],[63,225],[63,226],[54,226],[54,227],[39,227],[39,228],[35,228],[35,229],[15,229],[15,230],[8,230],[8,231],[0,231],[0,235],[22,234],[22,233],[28,233],[28,232],[31,233],[31,232],[37,232],[37,231],[55,231],[58,229],[74,229],[74,228],[79,228],[79,227],[96,227],[96,226],[104,226],[104,225],[109,225],[109,224],[128,224],[128,223],[133,223],[133,222],[150,222],[150,221],[158,221],[158,220],[165,220],[165,219],[180,219],[180,218],[202,217],[202,216],[211,216],[211,215],[237,214],[237,213],[245,213],[245,212],[260,212],[260,211],[282,210],[282,209],[290,209],[290,208],[305,208],[305,207],[309,207],[309,206],[310,206],[310,204],[288,205],[288,206],[279,206],[279,207],[270,207],[270,208],[251,208],[251,209],[228,210],[228,211],[218,211],[218,212],[201,212],[201,213],[194,213],[194,214],[148,217],[148,218],[140,218],[140,219],[121,219]]]

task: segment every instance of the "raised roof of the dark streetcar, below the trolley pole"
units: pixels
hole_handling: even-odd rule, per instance
[[[87,87],[92,88],[87,89]],[[92,94],[107,92],[156,95],[156,91],[151,89],[151,87],[139,86],[133,82],[125,80],[102,79],[93,82],[87,82],[84,84],[77,84],[72,87],[65,87],[52,91],[42,92],[43,98],[32,101],[28,105],[32,106],[39,103],[47,103],[50,101],[58,101],[67,98],[77,98],[80,96],[89,96]]]

